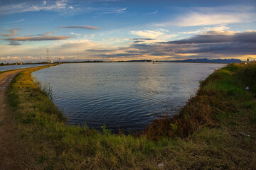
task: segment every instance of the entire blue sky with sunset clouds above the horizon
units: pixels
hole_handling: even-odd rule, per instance
[[[255,0],[0,0],[0,63],[256,60]]]

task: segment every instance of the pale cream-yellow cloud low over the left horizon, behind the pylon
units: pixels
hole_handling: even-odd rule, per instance
[[[50,60],[58,60],[58,58],[62,58],[63,60],[70,60],[75,56],[77,59],[78,51],[79,56],[82,59],[95,57],[95,52],[86,52],[85,50],[89,49],[110,49],[105,45],[102,45],[100,42],[92,42],[92,40],[63,40],[56,41],[55,44],[43,45],[40,47],[34,47],[31,45],[20,45],[13,47],[11,45],[0,45],[0,58],[6,58],[7,62],[11,62],[11,59],[7,57],[18,57],[20,62],[26,62],[26,57],[33,54],[33,57],[37,57],[38,59],[33,60],[34,62],[38,61],[47,61],[46,49],[50,50]],[[31,55],[32,56],[32,55]],[[99,58],[97,58],[99,60]]]

